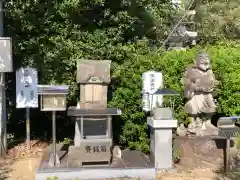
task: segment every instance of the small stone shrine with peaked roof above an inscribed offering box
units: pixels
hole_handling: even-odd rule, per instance
[[[68,109],[68,116],[76,117],[74,146],[68,152],[71,163],[110,164],[112,116],[121,115],[120,109],[107,108],[110,65],[109,60],[82,60],[77,67],[80,102]]]

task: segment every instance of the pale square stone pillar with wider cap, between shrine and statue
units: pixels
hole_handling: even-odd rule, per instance
[[[177,127],[177,120],[154,119],[148,117],[151,128],[150,158],[156,169],[172,169],[172,128]]]

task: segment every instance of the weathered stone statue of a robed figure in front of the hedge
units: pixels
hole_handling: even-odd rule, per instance
[[[199,118],[202,114],[216,112],[212,96],[216,82],[208,54],[199,53],[195,64],[187,67],[183,79],[184,96],[187,99],[184,109],[192,117],[192,123],[189,125],[192,133],[199,129],[196,126],[199,127]]]

